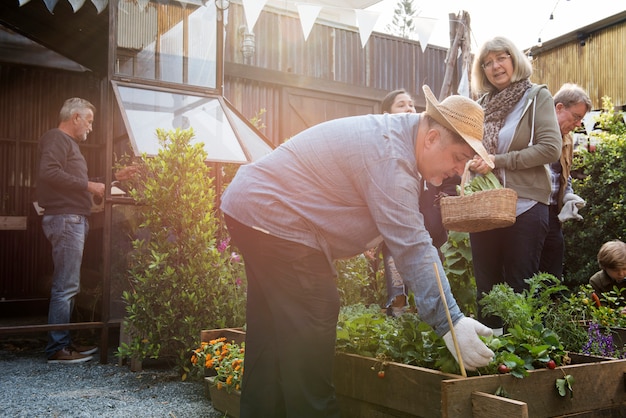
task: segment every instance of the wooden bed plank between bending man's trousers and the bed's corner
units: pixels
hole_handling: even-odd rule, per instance
[[[381,379],[378,377],[380,369],[381,362],[371,357],[345,353],[335,356],[334,383],[337,394],[350,398],[355,404],[366,404],[348,416],[385,416],[381,415],[384,409],[389,411],[388,416],[439,418],[441,382],[461,378],[454,374],[389,362],[382,368],[385,377]]]

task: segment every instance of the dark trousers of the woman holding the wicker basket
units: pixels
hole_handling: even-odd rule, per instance
[[[519,215],[512,226],[470,234],[480,322],[502,327],[499,317],[482,314],[483,293],[498,283],[507,283],[516,293],[528,289],[525,280],[539,272],[547,234],[548,206],[542,203]]]

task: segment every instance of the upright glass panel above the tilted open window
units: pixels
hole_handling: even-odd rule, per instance
[[[118,1],[116,74],[216,88],[215,2]]]

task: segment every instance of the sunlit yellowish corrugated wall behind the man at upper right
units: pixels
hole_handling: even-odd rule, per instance
[[[580,41],[533,56],[532,80],[546,84],[555,93],[564,83],[584,88],[594,109],[602,97],[611,97],[616,106],[626,105],[626,22],[595,32]]]

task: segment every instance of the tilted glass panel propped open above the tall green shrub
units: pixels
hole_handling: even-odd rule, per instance
[[[193,128],[208,161],[247,162],[217,97],[117,86],[115,93],[136,155],[156,155],[156,129]],[[257,141],[262,141],[256,138]],[[269,148],[269,147],[268,147]]]

